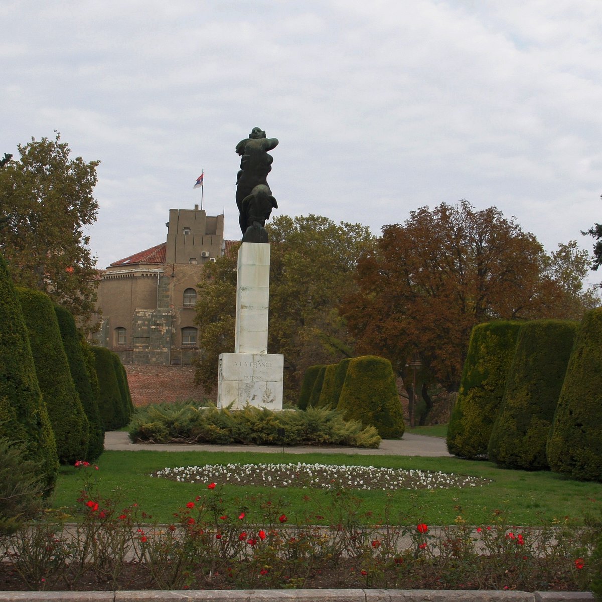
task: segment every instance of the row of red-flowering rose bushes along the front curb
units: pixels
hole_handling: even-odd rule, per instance
[[[459,515],[438,528],[426,518],[399,523],[388,495],[382,514],[365,512],[345,489],[328,491],[324,507],[299,515],[265,489],[227,498],[225,485],[204,482],[179,507],[169,504],[172,514],[161,523],[141,504],[102,494],[102,468],[78,462],[75,470],[82,489],[69,518],[76,524],[57,514],[54,523],[29,524],[0,541],[6,589],[571,591],[600,573],[602,521],[529,529],[495,511],[482,525]]]

